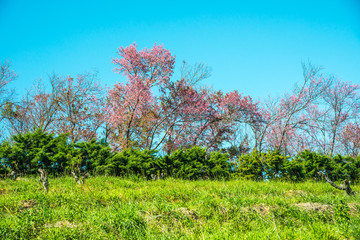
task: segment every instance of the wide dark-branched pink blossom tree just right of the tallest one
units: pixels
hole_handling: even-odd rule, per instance
[[[253,123],[260,118],[250,97],[237,91],[214,92],[186,79],[169,85],[169,94],[162,97],[162,103],[171,112],[164,122],[168,153],[196,145],[218,150],[235,136],[238,123]]]

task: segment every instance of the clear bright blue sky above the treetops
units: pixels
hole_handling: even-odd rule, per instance
[[[208,85],[256,99],[290,90],[307,60],[360,84],[360,0],[0,0],[0,61],[20,94],[53,72],[96,69],[112,85],[111,59],[133,42],[163,44],[177,67],[204,62]]]

